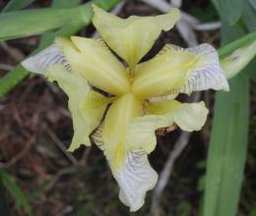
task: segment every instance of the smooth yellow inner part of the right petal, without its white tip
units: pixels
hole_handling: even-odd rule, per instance
[[[152,60],[139,65],[132,92],[141,98],[176,93],[198,64],[189,51],[164,49]]]

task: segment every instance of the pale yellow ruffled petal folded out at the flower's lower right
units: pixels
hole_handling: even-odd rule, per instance
[[[200,130],[206,122],[208,109],[204,102],[180,103],[176,100],[151,103],[149,115],[135,118],[126,134],[125,145],[143,148],[151,153],[157,144],[156,130],[171,127],[174,123],[183,131]]]

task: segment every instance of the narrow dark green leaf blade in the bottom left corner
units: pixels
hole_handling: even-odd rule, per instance
[[[17,204],[21,205],[29,216],[32,216],[32,209],[28,203],[27,196],[12,177],[3,169],[0,169],[0,179],[4,187],[8,189],[11,195],[15,198]]]

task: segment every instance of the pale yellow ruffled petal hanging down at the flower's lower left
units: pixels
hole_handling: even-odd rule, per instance
[[[69,97],[68,106],[74,128],[69,150],[75,150],[80,144],[90,145],[89,135],[99,125],[108,99],[90,90],[85,79],[76,73],[67,72],[61,65],[50,67],[45,76],[49,81],[57,81]],[[86,104],[87,102],[90,104]],[[95,107],[96,109],[94,109]]]

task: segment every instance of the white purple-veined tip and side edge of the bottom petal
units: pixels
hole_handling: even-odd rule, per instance
[[[103,124],[92,135],[97,147],[104,152],[102,139]],[[144,202],[146,192],[154,189],[158,182],[158,174],[151,167],[148,154],[142,149],[128,150],[124,163],[117,171],[112,171],[120,188],[120,200],[137,211]]]

